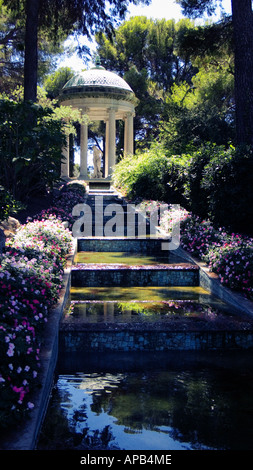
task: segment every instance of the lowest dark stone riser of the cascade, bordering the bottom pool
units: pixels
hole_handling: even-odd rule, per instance
[[[59,351],[211,351],[253,348],[252,331],[61,331]]]

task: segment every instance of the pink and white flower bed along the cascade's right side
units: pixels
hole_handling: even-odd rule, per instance
[[[157,207],[148,201],[149,207]],[[167,232],[180,222],[180,244],[192,256],[206,262],[218,274],[222,285],[243,293],[253,300],[253,239],[215,228],[209,220],[187,212],[184,208],[168,208],[160,225]]]

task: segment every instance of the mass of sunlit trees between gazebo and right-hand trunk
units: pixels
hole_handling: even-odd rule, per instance
[[[234,64],[227,20],[197,26],[189,19],[134,17],[112,38],[100,33],[96,39],[104,66],[122,75],[139,99],[138,147],[160,139],[180,153],[203,140],[225,145],[234,140]]]

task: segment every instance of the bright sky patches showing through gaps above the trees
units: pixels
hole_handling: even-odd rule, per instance
[[[222,1],[223,8],[227,14],[231,14],[231,0]],[[181,7],[176,4],[175,0],[152,0],[149,6],[143,5],[130,5],[129,13],[126,19],[129,19],[131,16],[147,16],[148,18],[153,19],[162,19],[166,20],[175,19],[176,21],[184,18],[182,15]],[[87,44],[87,40],[84,40],[84,44]],[[91,43],[88,43],[88,46],[94,50],[94,46]],[[87,65],[77,57],[76,54],[72,55],[70,58],[61,60],[58,64],[59,67],[71,67],[75,72],[79,72],[82,69],[87,68]]]

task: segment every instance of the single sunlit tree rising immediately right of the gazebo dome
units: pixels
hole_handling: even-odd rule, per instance
[[[137,99],[135,132],[138,146],[158,135],[164,94],[172,84],[190,82],[193,67],[188,54],[178,52],[179,38],[192,28],[190,20],[153,20],[137,16],[125,21],[111,38],[96,36],[98,53],[106,68],[117,70]]]

